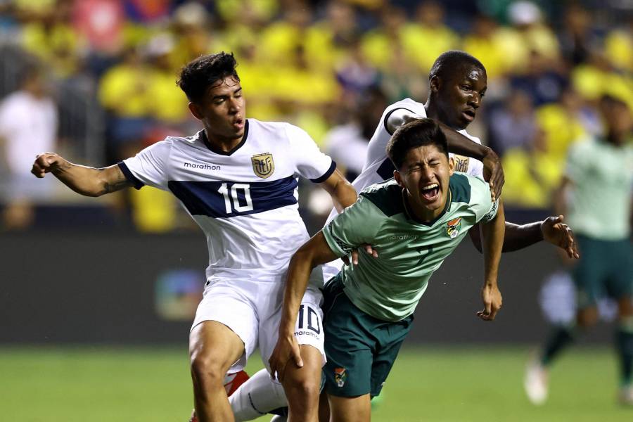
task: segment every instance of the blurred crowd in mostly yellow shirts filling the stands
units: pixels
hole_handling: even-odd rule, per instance
[[[14,0],[0,1],[0,43],[28,57],[20,84],[7,87],[5,77],[1,87],[0,167],[15,180],[44,150],[85,161],[85,140],[58,133],[65,89],[81,87],[98,104],[85,113],[103,116],[92,135],[102,162],[92,165],[193,134],[200,126],[175,82],[181,65],[216,51],[235,53],[249,117],[302,127],[352,179],[385,106],[426,101],[433,60],[468,51],[488,76],[468,132],[502,156],[504,198],[518,208],[551,206],[568,147],[603,132],[601,96],[633,108],[626,1]],[[20,216],[46,187],[28,181],[5,186],[5,226],[32,222]],[[124,200],[142,231],[178,226],[172,199],[153,189]],[[318,198],[304,201],[316,216],[308,217],[328,211]]]

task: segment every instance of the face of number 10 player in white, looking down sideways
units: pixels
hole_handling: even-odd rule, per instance
[[[232,76],[207,89],[200,103],[189,103],[189,110],[202,120],[210,140],[231,141],[244,134],[246,101],[240,82]]]

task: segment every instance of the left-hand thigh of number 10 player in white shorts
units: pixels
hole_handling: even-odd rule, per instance
[[[215,283],[205,290],[189,336],[192,359],[226,357],[231,360],[229,372],[244,368],[257,347],[258,319],[248,292],[241,288]]]

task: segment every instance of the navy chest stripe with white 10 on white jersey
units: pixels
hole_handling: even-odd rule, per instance
[[[167,183],[191,215],[237,217],[297,203],[298,181],[288,176],[274,181],[176,181]]]

